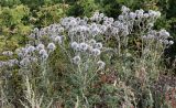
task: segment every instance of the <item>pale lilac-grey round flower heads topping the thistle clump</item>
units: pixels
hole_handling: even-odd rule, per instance
[[[145,12],[142,9],[132,12],[124,6],[121,11],[122,13],[117,20],[95,12],[90,18],[68,17],[61,19],[61,23],[42,29],[35,28],[29,35],[29,44],[15,51],[19,56],[19,65],[25,67],[33,62],[47,61],[57,45],[64,47],[64,40],[67,40],[75,54],[72,56],[74,64],[86,64],[94,60],[102,68],[106,63],[100,60],[100,55],[107,47],[106,41],[99,39],[114,36],[120,43],[121,39],[132,35],[136,29],[141,31],[138,35],[143,41],[153,40],[165,45],[174,44],[173,41],[167,40],[170,35],[166,30],[152,30],[155,21],[161,17],[161,12],[153,10]],[[4,55],[8,54],[4,53]]]

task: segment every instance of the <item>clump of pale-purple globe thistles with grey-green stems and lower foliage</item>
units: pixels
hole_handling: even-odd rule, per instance
[[[153,86],[174,42],[166,30],[153,30],[158,11],[121,11],[118,20],[95,12],[35,28],[24,47],[2,53],[10,58],[0,62],[8,100],[26,108],[161,108]]]

